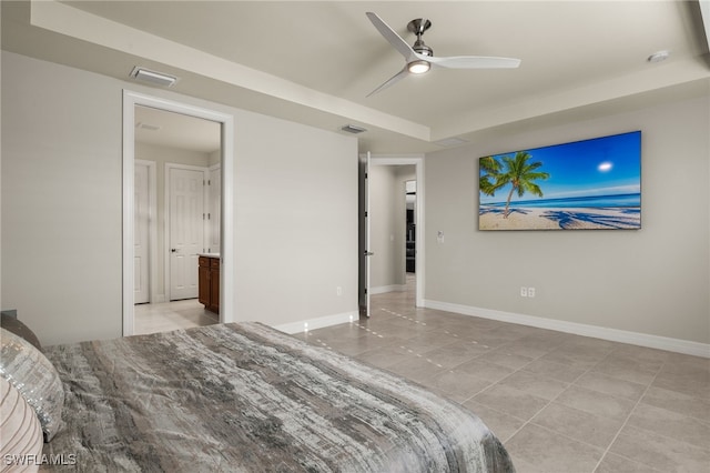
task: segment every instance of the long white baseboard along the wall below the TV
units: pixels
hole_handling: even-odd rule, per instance
[[[518,323],[520,325],[537,326],[538,329],[555,330],[557,332],[574,333],[576,335],[592,336],[595,339],[609,340],[611,342],[629,343],[632,345],[648,346],[657,350],[667,350],[676,353],[684,353],[693,356],[710,358],[710,344],[691,342],[688,340],[671,339],[668,336],[650,335],[647,333],[629,332],[626,330],[609,329],[605,326],[587,325],[577,322],[545,319],[532,315],[517,314],[513,312],[480,309],[470,305],[453,304],[425,300],[424,306],[440,311],[455,312],[463,315],[479,316],[481,319],[498,320],[501,322]]]

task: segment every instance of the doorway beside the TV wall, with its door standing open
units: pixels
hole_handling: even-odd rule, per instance
[[[404,291],[407,279],[414,285],[415,306],[424,306],[424,157],[363,155],[359,175],[361,315],[369,316],[369,295]],[[406,181],[417,182],[410,194],[415,223],[410,227],[406,224]],[[407,245],[413,271],[407,271]]]

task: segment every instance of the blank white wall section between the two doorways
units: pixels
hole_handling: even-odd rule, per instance
[[[247,112],[235,132],[239,320],[356,318],[356,139]]]

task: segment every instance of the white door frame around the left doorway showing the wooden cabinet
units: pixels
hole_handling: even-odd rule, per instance
[[[123,335],[134,333],[133,304],[133,219],[134,219],[134,160],[135,160],[135,107],[151,107],[212,120],[222,128],[222,234],[220,268],[220,322],[234,322],[234,281],[236,261],[234,254],[234,117],[189,105],[173,100],[123,90]]]

